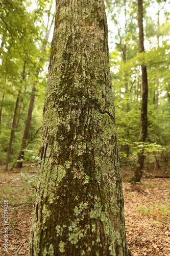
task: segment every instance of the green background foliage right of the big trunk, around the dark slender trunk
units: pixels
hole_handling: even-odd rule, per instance
[[[110,67],[113,93],[115,95],[115,115],[118,116],[116,128],[119,137],[122,164],[126,164],[126,169],[131,170],[132,166],[135,168],[137,154],[143,148],[145,159],[147,156],[143,172],[148,173],[148,168],[155,169],[155,164],[158,167],[156,158],[159,161],[159,166],[166,171],[166,168],[168,168],[167,159],[169,157],[169,143],[164,137],[165,134],[169,136],[167,135],[167,126],[169,125],[169,119],[167,119],[169,115],[167,92],[169,89],[166,87],[168,84],[166,72],[169,71],[169,60],[166,54],[169,51],[169,37],[167,36],[169,31],[169,25],[167,24],[169,24],[169,21],[166,18],[166,1],[154,1],[154,3],[143,1],[144,54],[138,53],[137,5],[127,0],[126,19],[123,19],[125,1],[107,2],[109,2],[107,3],[108,17],[113,22],[112,27],[114,27],[114,29],[110,27],[110,34],[113,37],[112,40],[114,41],[115,38],[116,42],[115,45],[113,43],[111,44],[114,51],[110,53]],[[153,12],[155,12],[155,16]],[[119,15],[116,15],[116,13],[119,13]],[[157,39],[158,13],[160,14],[159,48]],[[164,30],[165,27],[166,31]],[[121,35],[121,38],[119,35]],[[124,61],[122,49],[119,47],[121,41],[123,46],[127,41],[126,61]],[[148,142],[138,142],[140,132],[141,65],[147,66],[149,81]],[[158,77],[159,86],[157,83]],[[125,86],[126,81],[128,84],[128,93]],[[159,97],[157,97],[157,91],[159,92]],[[156,101],[159,106],[158,112],[156,111]],[[153,143],[155,143],[155,146]],[[160,146],[157,147],[158,144]],[[161,145],[164,146],[164,150],[161,150]],[[155,151],[153,148],[155,148]],[[164,156],[166,157],[164,158]],[[150,173],[152,173],[151,170]]]

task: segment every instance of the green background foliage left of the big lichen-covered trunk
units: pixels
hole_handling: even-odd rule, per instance
[[[30,125],[28,150],[39,153],[43,98],[46,87],[46,65],[50,48],[44,40],[52,20],[52,1],[12,1],[0,4],[0,163],[7,158],[16,98],[19,99],[15,137],[10,161],[18,157],[33,84],[36,95]],[[48,19],[48,28],[44,22]],[[47,50],[42,53],[42,46]],[[46,69],[47,70],[47,69]],[[39,78],[38,78],[39,75]],[[36,135],[36,136],[35,136]],[[29,160],[30,155],[26,160]]]

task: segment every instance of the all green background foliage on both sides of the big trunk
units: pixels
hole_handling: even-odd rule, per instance
[[[17,2],[3,0],[0,5],[1,164],[6,161],[16,97],[19,97],[19,110],[10,161],[18,157],[33,84],[36,84],[36,97],[27,141],[31,142],[27,147],[24,161],[34,160],[29,150],[34,150],[35,157],[39,153],[41,135],[40,132],[37,134],[36,132],[42,122],[47,80],[47,73],[44,72],[47,65],[44,63],[50,55],[48,44],[46,51],[41,53],[46,31],[43,19],[44,15],[46,18],[51,17],[53,3],[35,0],[34,4],[35,6],[32,1],[25,0]],[[145,53],[138,54],[137,5],[129,0],[106,1],[108,17],[114,24],[114,31],[111,33],[114,51],[110,53],[110,68],[119,151],[124,163],[128,163],[129,159],[135,159],[141,150],[150,157],[154,154],[163,155],[166,160],[170,155],[168,139],[170,121],[167,118],[170,103],[168,58],[170,23],[164,4],[165,1],[143,1]],[[155,14],[151,15],[153,7]],[[158,16],[160,13],[161,16]],[[147,66],[149,81],[148,141],[142,144],[138,144],[141,103],[140,65]],[[39,72],[38,78],[37,72]],[[157,84],[158,79],[159,84]]]

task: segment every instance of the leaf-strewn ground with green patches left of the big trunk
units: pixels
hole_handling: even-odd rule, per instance
[[[28,255],[37,168],[20,172],[0,172],[0,255]],[[8,200],[8,252],[4,252],[4,200]]]

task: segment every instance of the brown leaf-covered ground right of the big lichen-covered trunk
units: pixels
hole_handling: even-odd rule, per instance
[[[123,186],[129,255],[170,255],[170,179]]]

